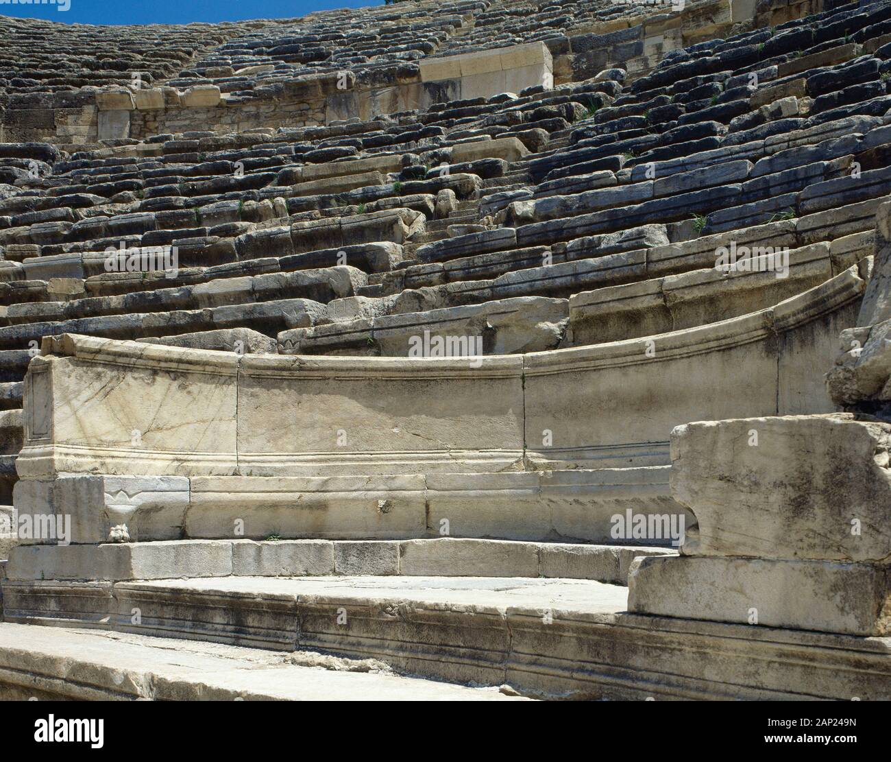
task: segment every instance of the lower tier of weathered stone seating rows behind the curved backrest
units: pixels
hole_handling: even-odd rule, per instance
[[[839,34],[878,33],[887,15],[832,18]],[[887,193],[884,96],[838,119],[809,116],[827,88],[883,84],[883,59],[820,42],[814,62],[834,68],[811,76],[797,63],[811,48],[773,43],[800,43],[822,21],[669,56],[631,86],[616,70],[396,121],[160,136],[143,159],[10,145],[20,161],[52,160],[53,174],[18,177],[0,201],[0,346],[249,328],[280,333],[286,353],[405,356],[418,332],[485,324],[485,351],[510,353],[692,328],[716,306],[720,317],[772,307],[867,254],[874,200]],[[327,48],[342,53],[344,39]],[[862,73],[847,79],[852,55]],[[700,80],[707,97],[691,100]],[[783,89],[799,83],[800,102]],[[826,214],[839,196],[851,203]],[[789,247],[788,277],[715,271],[715,251],[732,242]],[[115,244],[176,246],[182,268],[106,272],[102,249]],[[844,281],[838,308],[862,274]],[[13,362],[10,384],[24,370]]]

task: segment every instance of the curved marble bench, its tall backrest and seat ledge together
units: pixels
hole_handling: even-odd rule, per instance
[[[831,410],[821,371],[863,286],[852,267],[722,323],[527,355],[237,356],[47,338],[25,380],[14,504],[70,516],[75,544],[126,525],[139,542],[237,527],[261,540],[676,545],[658,521],[695,519],[670,494],[671,430]],[[657,523],[635,536],[631,514]]]

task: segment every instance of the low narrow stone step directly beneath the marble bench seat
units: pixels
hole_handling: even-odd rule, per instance
[[[70,541],[71,537],[68,538]],[[77,541],[77,537],[75,538]],[[569,545],[458,537],[415,540],[171,540],[106,545],[22,545],[11,580],[324,577],[330,575],[592,579],[625,585],[636,545]]]

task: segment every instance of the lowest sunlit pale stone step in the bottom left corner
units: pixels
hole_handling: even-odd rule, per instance
[[[0,623],[0,701],[522,701],[377,660]]]

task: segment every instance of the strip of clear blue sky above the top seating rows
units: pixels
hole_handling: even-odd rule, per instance
[[[0,15],[66,24],[188,24],[288,19],[331,8],[382,4],[383,0],[55,0],[55,4],[14,4],[0,0]],[[65,5],[70,7],[62,11]]]

